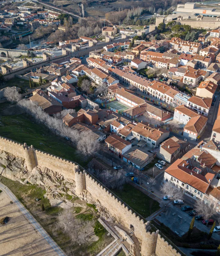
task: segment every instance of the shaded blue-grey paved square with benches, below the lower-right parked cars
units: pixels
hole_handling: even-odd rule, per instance
[[[184,204],[185,205],[185,204]],[[189,230],[189,225],[192,221],[192,216],[188,213],[189,211],[183,212],[181,208],[184,205],[172,205],[172,202],[167,201],[166,210],[158,215],[155,221],[160,221],[165,226],[170,228],[173,232],[175,232],[178,236],[183,236]],[[203,232],[209,233],[211,225],[208,227],[202,224],[201,221],[195,220],[194,226],[200,229]],[[220,239],[218,233],[213,233],[212,237],[214,239]]]

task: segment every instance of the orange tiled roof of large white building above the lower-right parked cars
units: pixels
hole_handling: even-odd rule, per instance
[[[200,173],[191,171],[185,166],[187,166],[187,162],[185,160],[177,159],[165,170],[165,172],[184,182],[185,184],[188,184],[191,187],[205,193],[209,187],[209,182],[207,181],[206,177]]]

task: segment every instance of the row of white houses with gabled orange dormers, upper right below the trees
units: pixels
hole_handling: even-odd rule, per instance
[[[190,41],[182,41],[177,40],[174,43],[174,49],[180,53],[199,53],[202,49],[202,45],[200,43],[190,42]]]

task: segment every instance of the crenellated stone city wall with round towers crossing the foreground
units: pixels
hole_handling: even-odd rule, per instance
[[[57,156],[47,154],[40,150],[28,147],[15,141],[0,137],[0,150],[9,152],[17,157],[24,158],[28,171],[35,166],[46,167],[55,173],[60,173],[68,179],[75,180],[76,195],[87,190],[94,200],[98,200],[109,213],[127,228],[134,227],[134,234],[141,244],[141,255],[151,256],[181,256],[163,238],[158,235],[159,230],[150,233],[149,222],[145,223],[141,217],[133,213],[124,202],[120,201],[106,187],[95,180],[85,170],[81,171],[79,165]]]

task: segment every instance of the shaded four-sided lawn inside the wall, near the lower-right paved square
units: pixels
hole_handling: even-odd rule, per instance
[[[113,192],[144,218],[160,209],[159,202],[129,184],[125,184],[123,190]]]

